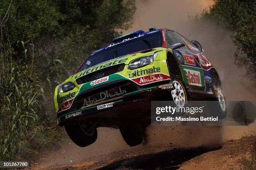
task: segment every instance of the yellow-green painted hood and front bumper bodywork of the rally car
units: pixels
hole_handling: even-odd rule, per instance
[[[163,84],[172,85],[168,66],[166,63],[167,52],[172,52],[172,50],[167,50],[165,48],[154,48],[149,52],[138,52],[131,55],[125,55],[123,57],[118,57],[108,62],[101,63],[100,65],[95,65],[86,70],[78,72],[75,75],[70,76],[67,80],[62,82],[61,85],[65,85],[65,83],[71,82],[74,85],[74,87],[72,87],[72,90],[69,90],[67,92],[60,92],[59,86],[61,85],[58,85],[55,89],[54,103],[59,122],[61,122],[61,117],[65,117],[67,115],[69,115],[68,117],[66,117],[67,119],[70,117],[76,117],[82,115],[81,111],[88,110],[91,107],[95,107],[97,105],[102,105],[106,102],[121,102],[119,99],[124,96],[132,95],[136,92],[141,92],[156,87],[156,85],[154,85],[154,82],[164,81]],[[143,67],[136,69],[131,68],[131,62],[143,57],[152,57],[153,60],[149,64],[144,65]],[[101,73],[101,70],[110,70],[112,67],[119,67],[118,69],[120,69],[120,71],[117,69],[117,72],[107,76],[104,76],[104,72],[102,72],[102,75],[98,75],[102,77],[99,77],[98,79],[89,82],[84,82],[82,80],[83,77],[86,77],[87,75],[94,74],[95,72]],[[95,76],[97,77],[97,75]],[[110,100],[91,102],[90,104],[88,103],[87,105],[82,105],[81,107],[77,107],[75,109],[74,107],[72,107],[74,102],[77,101],[77,97],[81,93],[107,83],[109,84],[111,82],[115,82],[116,80],[131,81],[132,83],[138,85],[138,87],[140,88],[136,91],[132,90],[129,92],[123,92],[123,89],[120,89],[121,91],[119,90],[119,94],[116,95],[116,97],[110,97]]]

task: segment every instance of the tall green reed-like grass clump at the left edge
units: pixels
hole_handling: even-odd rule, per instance
[[[40,120],[40,86],[30,83],[27,75],[26,70],[12,67],[5,84],[1,85],[0,158],[15,159],[18,142],[26,140],[26,136]]]

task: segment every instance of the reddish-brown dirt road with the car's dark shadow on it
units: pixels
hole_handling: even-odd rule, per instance
[[[33,165],[32,169],[40,170],[240,170],[244,159],[251,150],[255,150],[256,136],[229,140],[220,145],[207,145],[195,148],[175,148],[169,146],[146,146],[133,150],[116,151],[101,155],[95,160],[84,160],[64,166],[46,167]]]

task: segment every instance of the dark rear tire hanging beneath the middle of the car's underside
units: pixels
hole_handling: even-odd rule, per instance
[[[119,126],[119,130],[125,142],[133,147],[139,145],[143,141],[143,134],[135,128],[134,125],[131,126]]]

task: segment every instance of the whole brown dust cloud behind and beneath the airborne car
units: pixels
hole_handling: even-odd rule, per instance
[[[256,95],[243,76],[245,70],[234,64],[235,47],[230,40],[230,32],[219,30],[211,23],[189,22],[189,15],[201,13],[212,4],[213,0],[137,0],[133,26],[123,33],[141,29],[147,31],[149,27],[169,28],[178,31],[189,40],[199,41],[205,50],[205,55],[220,74],[226,99],[255,100]],[[126,145],[119,130],[111,128],[98,128],[98,130],[98,139],[92,145],[80,148],[67,139],[58,152],[49,154],[42,161],[47,162],[49,166],[70,165],[74,162],[89,161],[97,156],[97,159],[103,160],[106,159],[106,154],[114,151],[143,149],[148,145],[172,145],[177,148],[211,145],[253,134],[256,127],[149,126],[146,130],[147,142],[133,148]]]

